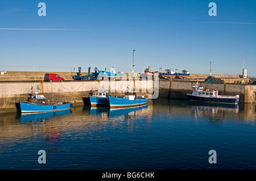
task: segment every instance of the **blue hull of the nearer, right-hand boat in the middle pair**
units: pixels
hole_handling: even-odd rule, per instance
[[[146,104],[148,99],[136,98],[135,100],[128,100],[120,97],[113,97],[109,95],[109,106],[110,107],[131,107]]]

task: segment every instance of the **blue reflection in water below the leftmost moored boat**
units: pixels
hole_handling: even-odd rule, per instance
[[[20,123],[27,123],[29,121],[43,121],[55,116],[63,116],[72,113],[71,110],[54,111],[54,112],[37,112],[37,113],[17,113],[20,116]]]

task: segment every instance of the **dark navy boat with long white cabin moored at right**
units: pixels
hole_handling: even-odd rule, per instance
[[[192,86],[192,94],[187,94],[189,100],[209,103],[221,104],[237,104],[239,102],[239,95],[218,95],[218,90],[203,90],[203,87]]]

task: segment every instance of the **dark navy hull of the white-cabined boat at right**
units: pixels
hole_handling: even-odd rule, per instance
[[[198,102],[221,103],[221,104],[238,104],[239,98],[218,98],[218,97],[205,97],[187,94],[189,100]]]

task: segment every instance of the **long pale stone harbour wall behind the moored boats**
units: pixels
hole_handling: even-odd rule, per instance
[[[84,104],[90,91],[98,88],[109,92],[109,95],[121,95],[127,90],[136,90],[138,95],[165,99],[187,100],[187,93],[192,92],[195,81],[172,80],[130,80],[130,81],[70,81],[70,82],[2,82],[0,83],[0,113],[16,111],[15,103],[26,101],[32,90],[40,86],[49,101],[71,101],[73,106]],[[240,103],[255,103],[256,85],[234,83],[213,84],[199,82],[204,89],[218,90],[220,95],[240,95]],[[155,90],[154,90],[155,88]],[[40,92],[40,91],[39,91]]]

